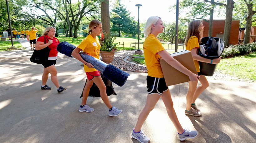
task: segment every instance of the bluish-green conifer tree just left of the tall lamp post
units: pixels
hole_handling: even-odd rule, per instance
[[[120,34],[128,33],[129,28],[132,23],[132,18],[129,17],[131,12],[129,12],[126,7],[120,3],[120,0],[116,0],[115,7],[111,12],[112,17],[110,21],[113,23],[111,31],[118,32],[118,36]]]

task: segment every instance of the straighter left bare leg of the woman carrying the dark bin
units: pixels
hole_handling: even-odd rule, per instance
[[[187,91],[187,96],[186,96],[186,99],[187,99],[187,104],[186,104],[186,110],[190,110],[191,109],[191,103],[192,103],[192,99],[194,97],[194,93],[197,89],[197,82],[198,81],[189,81],[188,84],[189,84],[189,88],[188,88],[188,91]]]

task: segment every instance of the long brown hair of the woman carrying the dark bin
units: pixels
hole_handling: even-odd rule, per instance
[[[196,36],[198,38],[198,43],[200,44],[200,32],[199,27],[201,26],[202,21],[201,20],[193,20],[188,24],[187,28],[187,36],[185,39],[185,46],[187,46],[187,41],[191,36]]]

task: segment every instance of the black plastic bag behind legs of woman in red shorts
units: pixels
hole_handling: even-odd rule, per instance
[[[106,88],[107,88],[106,89],[106,93],[107,93],[107,95],[108,96],[110,96],[110,95],[117,95],[115,93],[115,90],[114,90],[113,86],[112,86],[112,81],[110,81],[109,79],[105,78],[105,76],[103,76],[103,74],[101,72],[100,72],[100,76],[101,76],[104,84],[106,85]],[[87,79],[86,79],[86,81],[87,81]],[[84,84],[84,87],[85,87],[85,85],[86,85],[86,82]],[[81,94],[80,98],[83,97],[83,92],[84,92],[84,88],[83,88],[83,91],[82,91],[82,94]],[[95,83],[93,83],[92,87],[90,88],[90,92],[89,92],[88,96],[100,97],[100,90],[97,87],[97,85],[95,85]]]

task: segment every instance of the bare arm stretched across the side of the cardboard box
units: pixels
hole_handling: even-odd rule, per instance
[[[177,69],[178,71],[184,73],[187,75],[190,79],[190,81],[198,81],[200,76],[194,74],[192,71],[188,70],[186,67],[184,67],[180,62],[178,62],[176,59],[174,59],[166,50],[162,50],[157,52],[163,60],[165,60],[169,65]]]

